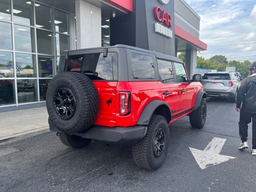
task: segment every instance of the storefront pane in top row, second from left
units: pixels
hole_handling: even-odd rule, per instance
[[[13,21],[34,26],[33,1],[13,0]]]

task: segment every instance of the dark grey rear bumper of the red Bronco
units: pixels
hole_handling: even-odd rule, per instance
[[[54,132],[60,132],[56,126],[50,124],[50,130]],[[84,133],[74,133],[73,135],[80,136],[86,139],[96,140],[112,145],[128,145],[134,144],[141,140],[147,132],[146,126],[134,126],[134,127],[104,127],[104,126],[92,126],[88,131]]]

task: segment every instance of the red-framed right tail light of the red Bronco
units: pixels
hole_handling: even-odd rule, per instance
[[[120,95],[119,114],[120,116],[126,116],[130,114],[130,110],[131,110],[130,92],[120,92],[119,95]]]

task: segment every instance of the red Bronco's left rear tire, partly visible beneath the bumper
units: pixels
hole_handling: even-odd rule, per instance
[[[80,136],[69,135],[64,133],[61,133],[59,138],[64,145],[77,149],[88,146],[88,144],[92,141],[91,139],[85,139]]]

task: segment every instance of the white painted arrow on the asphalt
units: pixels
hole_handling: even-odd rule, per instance
[[[236,158],[219,154],[225,144],[225,141],[226,139],[214,137],[203,151],[191,147],[189,149],[200,168],[205,169]]]

